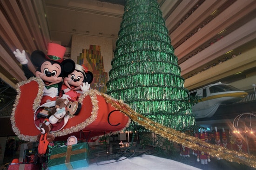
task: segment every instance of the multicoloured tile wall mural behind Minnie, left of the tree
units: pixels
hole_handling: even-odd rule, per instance
[[[108,73],[104,70],[103,56],[101,56],[100,45],[90,45],[89,49],[83,49],[80,56],[77,57],[78,64],[84,64],[94,74],[94,81],[91,88],[101,93],[107,91],[106,83],[108,81]]]

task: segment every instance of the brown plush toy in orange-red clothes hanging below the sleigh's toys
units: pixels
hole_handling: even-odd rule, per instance
[[[37,157],[40,158],[40,162],[44,162],[43,160],[45,159],[48,144],[49,142],[54,141],[55,136],[54,134],[50,133],[52,125],[48,119],[45,119],[42,123],[40,123],[39,126],[41,133],[37,135],[37,141],[39,141]]]

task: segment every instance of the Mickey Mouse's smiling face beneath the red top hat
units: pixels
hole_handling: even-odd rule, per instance
[[[50,86],[53,84],[58,84],[62,81],[61,74],[61,65],[58,63],[52,64],[49,61],[42,63],[40,71],[35,72],[35,76],[42,79],[45,86]]]

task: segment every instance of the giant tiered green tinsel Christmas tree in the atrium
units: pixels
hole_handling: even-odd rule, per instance
[[[107,94],[164,126],[180,131],[195,126],[188,90],[156,0],[126,1],[114,56]]]

